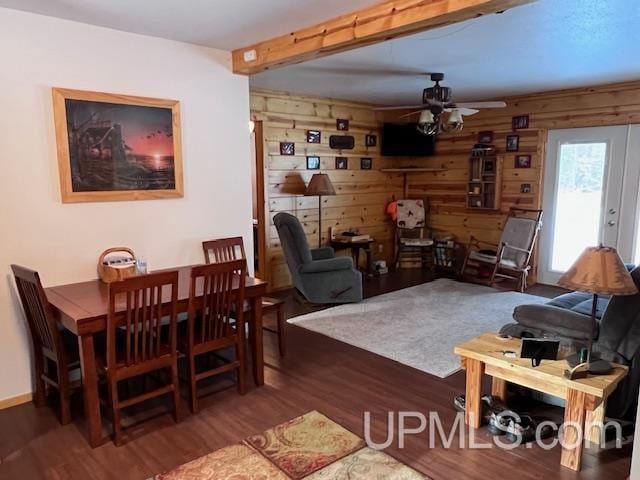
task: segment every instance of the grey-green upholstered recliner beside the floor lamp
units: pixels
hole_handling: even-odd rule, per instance
[[[350,257],[336,257],[331,247],[311,250],[300,221],[290,213],[273,217],[293,285],[313,303],[362,300],[362,275]]]

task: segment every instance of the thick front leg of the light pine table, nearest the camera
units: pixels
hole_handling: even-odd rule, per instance
[[[562,466],[580,471],[582,466],[582,448],[584,447],[584,423],[586,417],[586,394],[571,388],[567,389],[564,409],[563,443],[560,463]],[[573,447],[573,448],[567,448]]]

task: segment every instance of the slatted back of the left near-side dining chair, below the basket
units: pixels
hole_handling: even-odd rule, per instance
[[[166,292],[169,297],[164,298]],[[170,299],[170,306],[163,307]],[[176,351],[178,272],[132,277],[109,284],[107,316],[107,366],[127,366],[153,360]],[[120,308],[123,307],[123,308]],[[168,318],[163,338],[162,320]],[[125,336],[124,352],[118,351],[118,336]]]

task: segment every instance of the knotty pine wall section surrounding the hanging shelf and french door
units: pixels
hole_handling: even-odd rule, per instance
[[[436,155],[428,166],[447,168],[445,172],[416,174],[410,195],[427,195],[432,205],[431,225],[436,231],[452,232],[459,241],[470,235],[495,243],[511,206],[541,208],[543,169],[550,129],[625,125],[640,123],[640,82],[612,84],[525,95],[504,99],[507,108],[485,110],[465,120],[458,134],[440,135]],[[529,115],[529,128],[512,130],[512,117]],[[391,119],[387,115],[387,119]],[[478,133],[493,131],[499,155],[503,158],[502,205],[499,212],[487,213],[466,208],[468,159]],[[507,135],[520,136],[517,153],[506,152]],[[530,169],[515,168],[515,156],[532,155]],[[531,193],[520,192],[522,184]],[[544,227],[543,227],[544,228]],[[535,280],[535,258],[534,258]]]

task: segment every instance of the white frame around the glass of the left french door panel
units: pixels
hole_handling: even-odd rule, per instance
[[[599,241],[606,245],[617,246],[619,243],[618,224],[621,218],[622,189],[619,186],[616,188],[616,184],[621,185],[622,179],[625,177],[629,131],[628,125],[549,130],[543,188],[543,209],[546,221],[540,234],[538,260],[540,283],[556,284],[563,273],[551,271],[560,146],[571,143],[607,143],[600,224],[605,225],[608,222],[613,222],[613,224],[601,228]],[[621,159],[612,161],[613,158]]]

